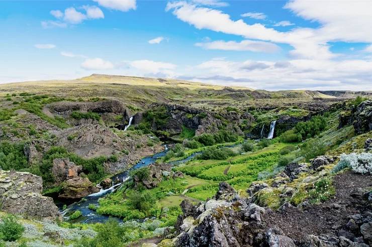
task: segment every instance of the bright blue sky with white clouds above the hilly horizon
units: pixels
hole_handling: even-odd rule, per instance
[[[0,1],[0,83],[94,73],[372,90],[372,1]]]

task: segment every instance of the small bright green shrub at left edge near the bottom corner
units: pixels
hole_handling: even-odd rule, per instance
[[[25,231],[25,227],[18,223],[17,218],[9,215],[2,217],[2,223],[0,223],[0,232],[2,233],[2,239],[5,241],[16,241],[21,238],[22,233]]]

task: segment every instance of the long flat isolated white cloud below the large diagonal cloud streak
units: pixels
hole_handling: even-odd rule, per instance
[[[196,46],[202,47],[206,50],[225,50],[225,51],[250,51],[250,52],[267,52],[275,53],[280,51],[280,47],[273,43],[263,41],[243,40],[241,42],[235,41],[213,41],[209,43],[197,43]]]

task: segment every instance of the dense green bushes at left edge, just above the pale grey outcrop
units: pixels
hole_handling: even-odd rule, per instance
[[[0,167],[4,170],[22,170],[29,167],[27,157],[23,151],[24,143],[0,143]]]

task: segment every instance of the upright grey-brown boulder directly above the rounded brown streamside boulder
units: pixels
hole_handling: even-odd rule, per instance
[[[60,158],[53,160],[51,171],[56,183],[60,183],[67,179],[77,177],[82,171],[82,166],[77,166],[74,162],[70,162],[69,158]]]

